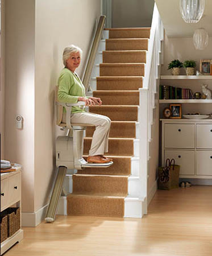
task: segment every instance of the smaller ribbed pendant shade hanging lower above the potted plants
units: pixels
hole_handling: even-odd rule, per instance
[[[194,31],[193,43],[196,49],[205,49],[209,43],[209,35],[204,28],[198,28]]]

